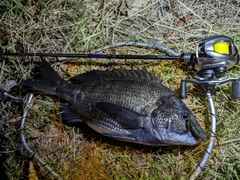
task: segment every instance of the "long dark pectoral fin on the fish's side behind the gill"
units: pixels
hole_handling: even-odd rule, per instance
[[[143,119],[146,116],[141,113],[109,102],[97,102],[95,106],[96,108],[115,116],[114,120],[125,129],[143,128]]]

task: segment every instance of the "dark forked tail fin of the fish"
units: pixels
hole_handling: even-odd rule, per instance
[[[24,81],[24,85],[46,93],[57,95],[58,86],[68,84],[45,60],[42,60],[42,64],[40,65],[40,75],[40,79],[28,79]]]

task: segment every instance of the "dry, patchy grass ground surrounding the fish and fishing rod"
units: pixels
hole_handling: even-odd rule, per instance
[[[0,47],[18,52],[89,52],[120,41],[154,42],[175,51],[194,52],[196,43],[208,35],[232,37],[240,49],[238,1],[171,1],[168,6],[156,0],[127,16],[122,1],[73,0],[63,2],[2,0],[0,2]],[[184,26],[177,22],[188,13]],[[138,47],[111,48],[106,53],[161,54]],[[48,58],[53,62],[55,59]],[[104,138],[86,125],[67,127],[61,123],[59,98],[22,86],[22,81],[36,74],[37,57],[0,59],[0,87],[8,80],[17,86],[11,93],[37,97],[26,123],[30,147],[64,179],[188,179],[200,162],[207,143],[196,147],[146,147]],[[180,80],[194,72],[177,62],[146,63],[125,60],[78,59],[77,72],[133,66],[146,66],[161,75],[163,84],[179,92]],[[56,70],[65,79],[72,71]],[[240,77],[239,66],[226,73]],[[209,132],[209,111],[204,92],[188,87],[184,102]],[[214,97],[218,118],[217,141],[208,165],[199,179],[239,179],[240,167],[240,102],[232,100],[231,85],[217,87]],[[36,161],[28,157],[19,139],[21,108],[8,100],[0,104],[0,155],[9,179],[37,177],[54,179]],[[31,162],[31,163],[30,163]],[[35,174],[29,175],[29,169]],[[32,172],[32,171],[31,171]]]

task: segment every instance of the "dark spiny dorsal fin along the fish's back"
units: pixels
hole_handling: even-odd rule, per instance
[[[136,78],[136,79],[147,79],[147,80],[154,80],[161,82],[159,77],[155,76],[154,73],[150,73],[147,71],[146,67],[143,69],[131,69],[127,70],[124,68],[119,69],[113,69],[113,70],[106,70],[106,71],[99,71],[99,70],[93,70],[86,72],[84,74],[76,75],[72,78],[73,82],[80,84],[92,80],[97,79],[104,79],[104,78]]]

